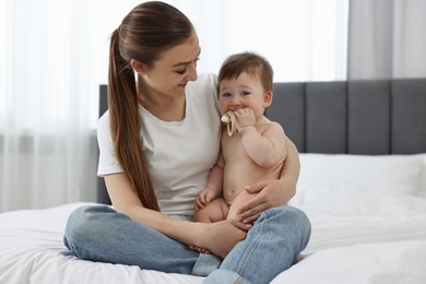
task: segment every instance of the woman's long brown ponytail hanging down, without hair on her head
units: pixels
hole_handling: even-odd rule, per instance
[[[114,31],[109,47],[108,108],[111,138],[117,159],[142,205],[159,211],[142,151],[134,73],[120,54],[119,32],[120,28]]]

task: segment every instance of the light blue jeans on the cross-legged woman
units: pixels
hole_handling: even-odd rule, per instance
[[[132,222],[109,206],[82,206],[69,217],[64,245],[80,259],[139,265],[141,269],[205,276],[205,283],[269,283],[288,269],[310,237],[305,213],[267,210],[221,262]]]

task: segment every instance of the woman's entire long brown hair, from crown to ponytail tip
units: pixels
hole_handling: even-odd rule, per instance
[[[159,211],[142,150],[138,93],[130,60],[151,67],[165,50],[188,39],[193,26],[176,8],[150,1],[133,8],[114,31],[108,70],[108,107],[117,158],[142,205]]]

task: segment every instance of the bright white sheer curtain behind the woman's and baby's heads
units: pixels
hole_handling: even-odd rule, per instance
[[[267,57],[280,82],[346,79],[346,0],[168,1],[194,23],[200,72],[217,72],[234,52]]]

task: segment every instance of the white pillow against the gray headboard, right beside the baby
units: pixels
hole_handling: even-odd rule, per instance
[[[300,154],[299,184],[348,187],[359,192],[415,194],[423,161],[415,155]]]

